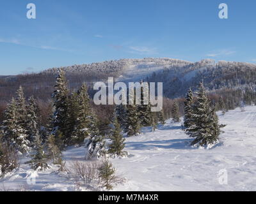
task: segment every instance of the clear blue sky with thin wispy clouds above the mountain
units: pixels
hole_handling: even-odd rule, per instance
[[[254,0],[1,0],[0,75],[121,58],[254,63],[255,10]]]

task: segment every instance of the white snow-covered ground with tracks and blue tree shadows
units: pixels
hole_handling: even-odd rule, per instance
[[[114,191],[256,191],[256,106],[220,115],[220,122],[227,124],[225,133],[212,149],[190,147],[180,124],[170,120],[154,133],[143,128],[143,134],[127,138],[129,157],[111,159],[117,174],[127,179]],[[63,156],[67,164],[83,160],[84,148],[69,149]],[[35,172],[20,164],[0,180],[0,190],[74,191],[74,183],[54,170],[29,180]],[[220,182],[223,177],[227,184]]]

